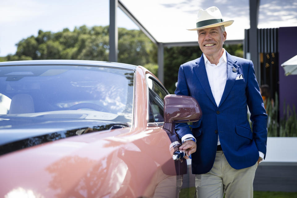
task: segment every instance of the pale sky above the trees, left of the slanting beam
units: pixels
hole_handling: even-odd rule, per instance
[[[118,27],[139,29],[119,8]],[[15,44],[38,30],[109,25],[109,0],[0,0],[0,57],[15,54]]]

